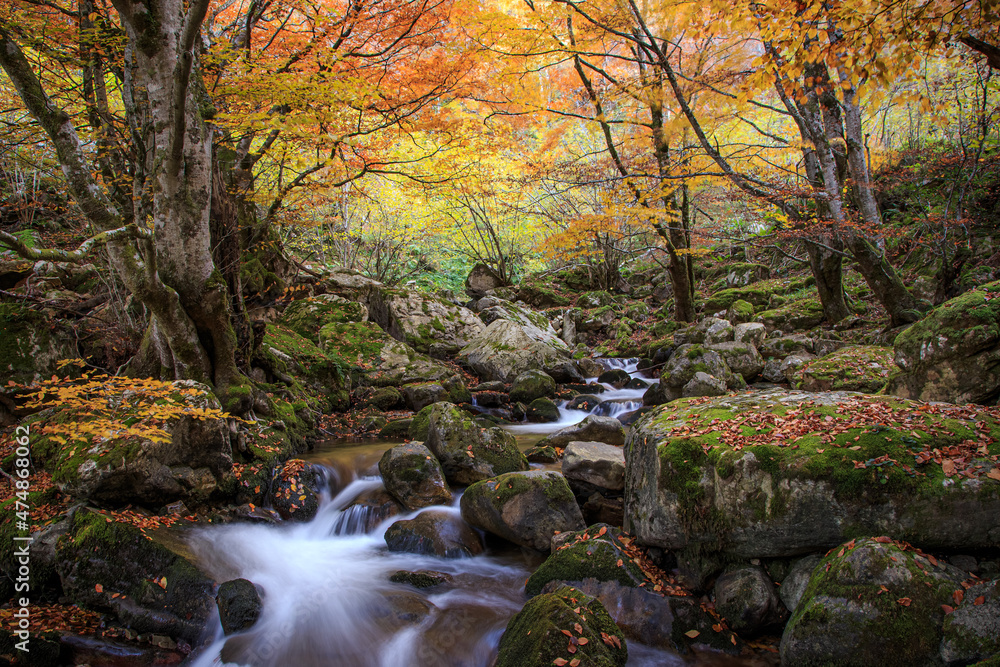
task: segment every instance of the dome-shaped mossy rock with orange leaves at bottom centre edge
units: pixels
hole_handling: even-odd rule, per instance
[[[573,660],[581,667],[620,667],[628,660],[628,649],[604,605],[563,587],[532,598],[510,619],[496,667],[550,667]]]

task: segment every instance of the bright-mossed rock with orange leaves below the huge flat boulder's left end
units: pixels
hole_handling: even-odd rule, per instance
[[[625,551],[620,528],[596,524],[559,537],[565,538],[562,545],[528,577],[524,587],[528,595],[538,595],[552,581],[594,579],[630,587],[646,581],[642,569]]]

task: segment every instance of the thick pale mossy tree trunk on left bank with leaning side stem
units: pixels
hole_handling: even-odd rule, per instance
[[[126,63],[137,98],[131,101],[141,102],[150,121],[147,153],[139,158],[146,179],[133,198],[151,202],[148,219],[120,210],[95,181],[72,119],[48,97],[20,45],[2,29],[0,65],[55,145],[69,189],[94,227],[109,232],[137,223],[130,226],[135,233],[114,234],[108,243],[114,269],[150,313],[131,372],[198,380],[225,399],[244,377],[236,363],[230,292],[211,247],[213,137],[195,52],[208,0],[113,5],[134,59]],[[249,393],[236,394],[244,398],[228,401],[227,409],[246,411]]]

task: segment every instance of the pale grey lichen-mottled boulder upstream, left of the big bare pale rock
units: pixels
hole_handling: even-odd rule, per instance
[[[454,354],[485,328],[471,310],[423,292],[383,287],[372,290],[368,304],[390,336],[425,354]]]

